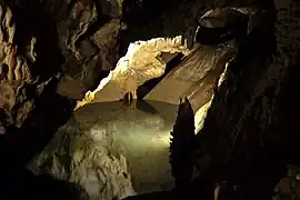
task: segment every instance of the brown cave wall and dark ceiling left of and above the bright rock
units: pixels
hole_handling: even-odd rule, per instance
[[[59,94],[82,99],[116,67],[130,42],[182,36],[182,43],[191,48],[196,18],[226,3],[1,1],[2,40],[6,41],[1,49],[2,132],[7,126],[23,123],[52,79],[59,79]]]

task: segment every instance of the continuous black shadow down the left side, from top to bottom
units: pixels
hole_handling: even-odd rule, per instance
[[[21,1],[20,1],[21,2]],[[38,83],[50,78],[40,97],[36,86],[28,86],[29,98],[34,99],[34,109],[21,128],[8,127],[7,133],[0,139],[0,198],[1,199],[77,199],[78,187],[52,178],[36,177],[24,170],[31,158],[40,152],[50,141],[57,129],[70,118],[76,102],[56,93],[63,57],[57,41],[56,23],[46,14],[38,1],[17,4],[7,1],[16,21],[16,40],[18,53],[24,54],[26,46],[32,37],[37,38],[38,58],[29,62]],[[71,189],[72,192],[68,192]]]

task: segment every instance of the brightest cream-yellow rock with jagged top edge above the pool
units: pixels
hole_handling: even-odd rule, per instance
[[[118,101],[127,92],[136,91],[147,80],[162,76],[166,69],[166,62],[159,58],[162,52],[188,54],[189,50],[181,43],[181,37],[131,43],[116,69],[100,82],[94,91],[86,94],[86,98],[79,102],[79,107],[91,101]]]

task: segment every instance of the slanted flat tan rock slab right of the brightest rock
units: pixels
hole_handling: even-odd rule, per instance
[[[178,104],[179,98],[188,97],[193,110],[199,110],[211,99],[216,80],[233,54],[233,47],[199,47],[168,73],[146,99]]]

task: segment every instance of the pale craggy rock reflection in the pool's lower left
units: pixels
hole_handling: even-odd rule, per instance
[[[82,128],[90,126],[90,129]],[[104,124],[73,123],[72,120],[28,166],[36,174],[72,182],[88,194],[86,199],[122,199],[134,194],[128,161],[116,152],[112,129]]]

